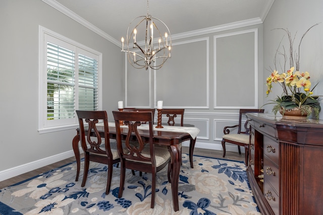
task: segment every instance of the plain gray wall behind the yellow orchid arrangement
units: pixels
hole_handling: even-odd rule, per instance
[[[264,65],[264,80],[270,76],[270,67],[274,68],[274,56],[276,49],[283,36],[282,45],[289,48],[286,34],[282,30],[273,30],[276,28],[288,28],[291,35],[297,32],[294,47],[298,47],[299,41],[306,30],[316,23],[318,26],[312,28],[304,37],[300,49],[300,70],[310,73],[312,86],[319,82],[313,90],[314,95],[323,95],[323,1],[321,0],[284,0],[275,1],[270,12],[268,13],[263,23],[263,65]],[[288,51],[288,50],[287,50]],[[282,58],[278,61],[283,62]],[[289,65],[289,61],[288,61]],[[280,70],[280,73],[282,71]],[[263,92],[266,91],[266,86],[263,85]],[[273,85],[273,93],[265,98],[264,102],[276,98],[276,95],[281,95],[282,89],[278,85]],[[263,94],[265,97],[265,94]],[[323,107],[322,101],[320,102]],[[266,111],[271,112],[272,106],[264,107]],[[323,119],[323,111],[320,112],[320,119]]]

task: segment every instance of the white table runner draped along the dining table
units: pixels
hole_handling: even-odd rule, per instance
[[[97,123],[97,126],[103,126],[102,122]],[[160,131],[171,131],[171,132],[184,132],[189,133],[193,139],[196,138],[197,134],[200,132],[200,129],[197,127],[185,127],[185,126],[170,126],[170,125],[163,125],[164,128],[155,128],[157,125],[153,125],[154,130]],[[109,127],[116,127],[115,122],[109,122]],[[127,128],[126,125],[121,125],[120,127]],[[148,124],[141,124],[140,129],[148,130]]]

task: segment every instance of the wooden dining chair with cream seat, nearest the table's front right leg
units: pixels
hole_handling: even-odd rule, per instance
[[[171,156],[167,149],[158,148],[155,149],[153,144],[153,116],[151,112],[136,112],[136,111],[113,111],[113,116],[116,122],[117,133],[117,146],[118,153],[121,159],[121,179],[118,197],[122,197],[126,169],[137,170],[141,172],[151,173],[151,204],[150,207],[154,207],[155,191],[156,191],[156,173],[168,165],[168,180],[171,181]],[[122,146],[122,130],[120,128],[120,121],[123,121],[128,130],[126,131],[125,147],[128,153],[125,153]],[[149,137],[145,136],[148,144],[145,144],[144,138],[140,135],[138,127],[141,122],[147,122],[149,125]],[[131,139],[136,137],[139,142],[139,146],[133,146]]]

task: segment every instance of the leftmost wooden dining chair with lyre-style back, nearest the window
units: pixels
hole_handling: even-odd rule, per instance
[[[120,162],[120,157],[117,151],[116,142],[110,142],[109,125],[107,122],[106,111],[77,110],[76,113],[80,125],[79,133],[81,147],[84,152],[84,173],[81,187],[85,186],[90,161],[107,164],[107,182],[105,194],[109,194],[113,173],[113,165]],[[104,139],[102,139],[96,127],[96,124],[99,120],[103,121]],[[85,132],[84,129],[84,122],[88,126],[87,132]],[[90,133],[93,133],[93,135],[90,135]]]

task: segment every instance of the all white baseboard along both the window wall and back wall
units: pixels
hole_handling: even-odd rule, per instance
[[[184,141],[183,146],[189,147],[190,142]],[[195,148],[201,148],[201,149],[210,149],[210,150],[219,150],[222,151],[222,145],[221,144],[209,144],[206,142],[196,142]],[[226,146],[227,152],[238,152],[237,146]],[[80,149],[80,152],[82,149]],[[241,147],[241,152],[244,153],[244,148]],[[64,152],[58,155],[53,155],[48,158],[43,158],[37,161],[33,161],[27,164],[23,164],[17,167],[13,167],[7,170],[0,171],[0,181],[7,180],[9,178],[21,175],[23,173],[33,171],[35,169],[62,161],[64,159],[68,159],[74,156],[73,150],[70,150],[68,152]]]

